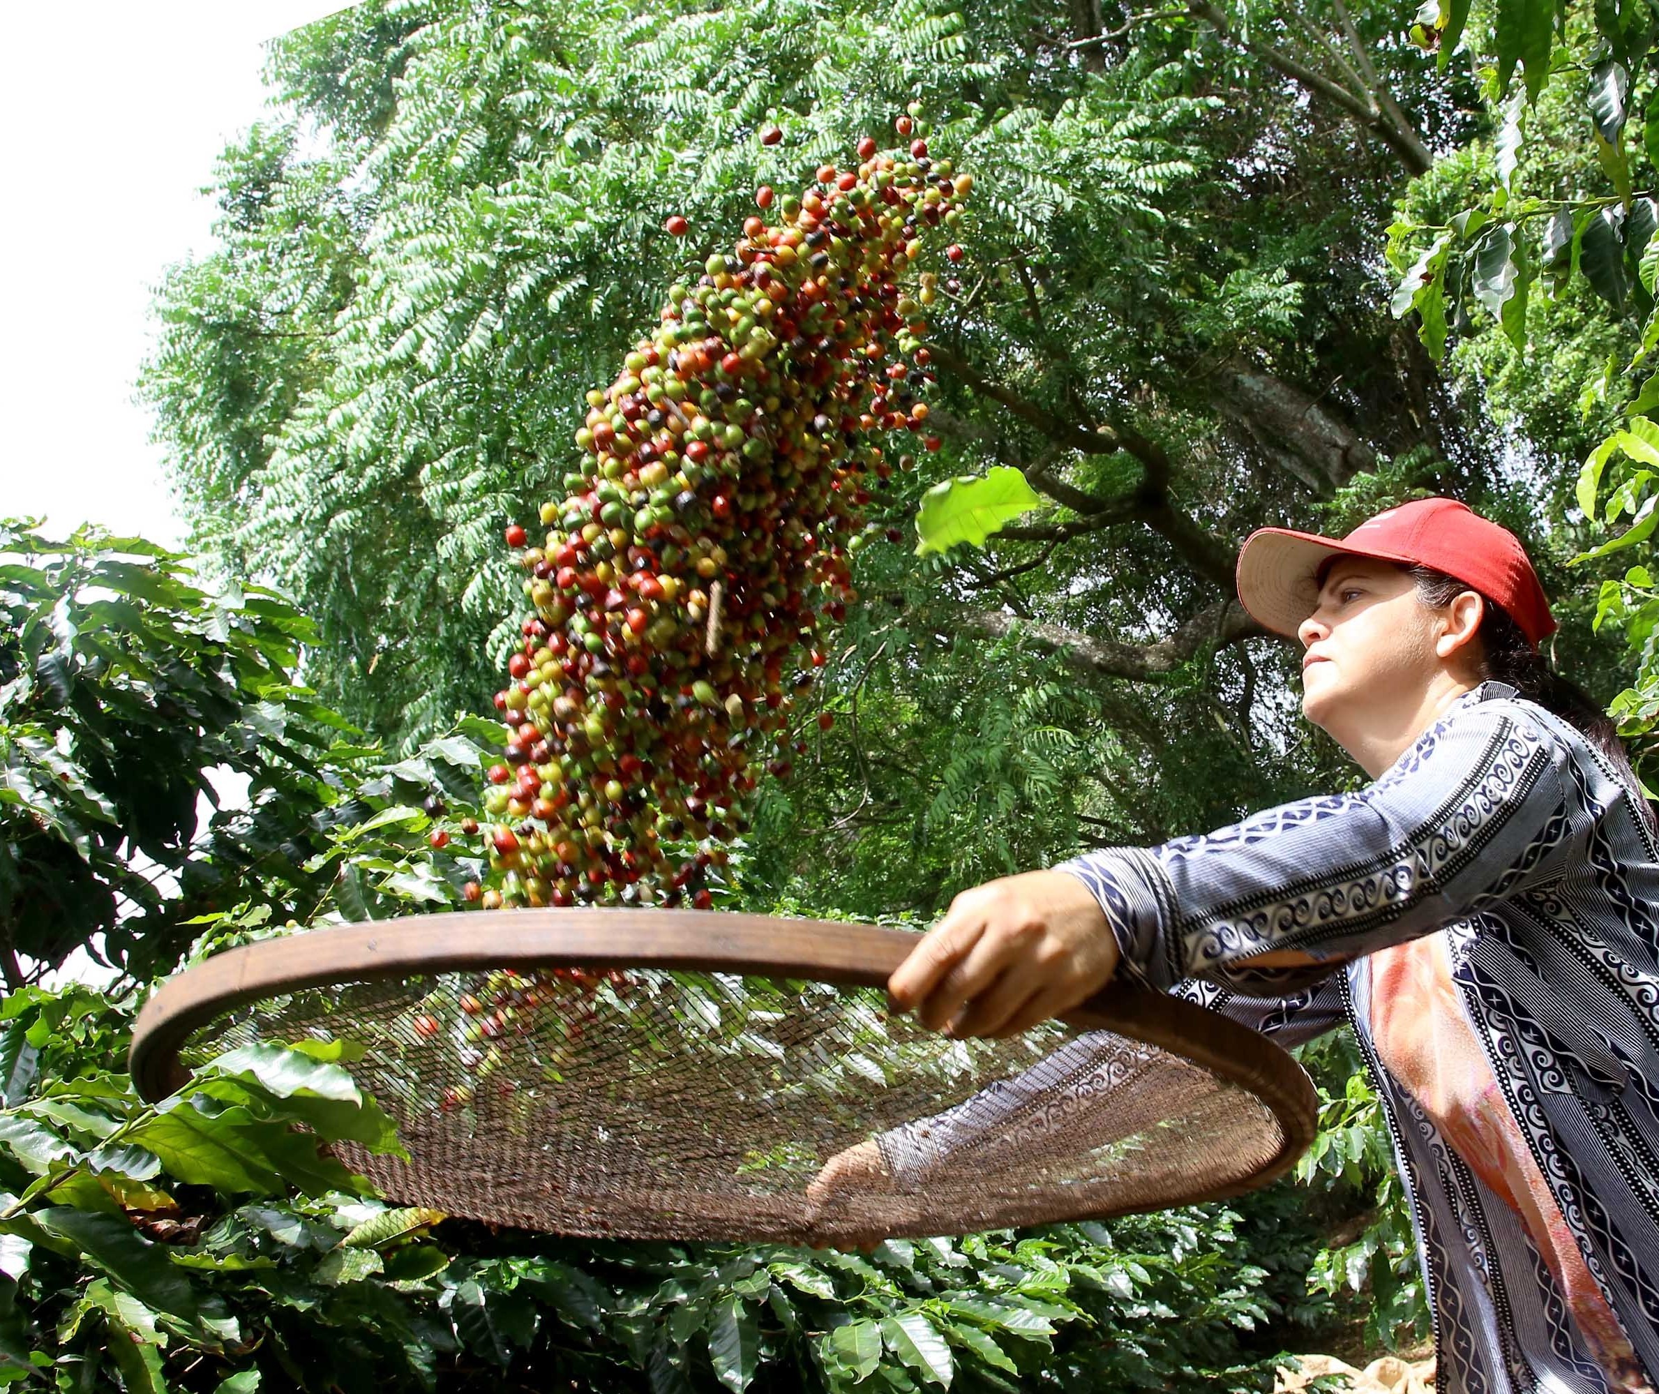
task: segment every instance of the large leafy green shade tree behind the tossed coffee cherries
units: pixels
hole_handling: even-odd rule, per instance
[[[985,553],[863,554],[826,689],[853,720],[766,795],[770,890],[927,909],[1347,778],[1231,596],[1262,523],[1462,493],[1535,539],[1559,657],[1616,685],[1558,566],[1569,481],[1530,488],[1389,310],[1392,201],[1483,121],[1394,7],[368,3],[270,78],[290,115],[226,151],[146,390],[197,543],[290,586],[312,679],[395,740],[488,700],[523,606],[499,529],[670,279],[914,100],[977,188],[934,307],[946,445],[876,514],[909,533],[990,465],[1044,506]]]

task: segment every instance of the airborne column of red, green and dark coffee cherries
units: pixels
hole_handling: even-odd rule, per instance
[[[775,221],[750,216],[675,284],[587,393],[544,543],[508,528],[534,616],[496,694],[491,875],[468,899],[707,908],[760,773],[805,750],[795,705],[854,599],[871,490],[912,463],[888,433],[937,448],[922,242],[956,227],[972,179],[929,161],[924,123],[896,129],[909,154],[866,138],[798,197],[757,191]],[[680,214],[664,227],[687,232]]]

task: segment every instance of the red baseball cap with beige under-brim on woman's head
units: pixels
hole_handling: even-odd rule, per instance
[[[1545,587],[1526,548],[1455,498],[1420,498],[1367,518],[1345,538],[1258,528],[1239,548],[1239,601],[1276,634],[1296,631],[1319,604],[1319,566],[1332,556],[1420,563],[1501,606],[1536,649],[1554,632]]]

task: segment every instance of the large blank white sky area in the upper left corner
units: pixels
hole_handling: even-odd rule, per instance
[[[264,43],[345,0],[18,5],[0,46],[13,201],[0,219],[0,516],[48,534],[105,523],[178,546],[184,529],[133,382],[151,287],[212,246],[197,189],[262,115]]]

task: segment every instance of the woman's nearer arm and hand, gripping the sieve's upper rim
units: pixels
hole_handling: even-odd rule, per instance
[[[1568,838],[1566,745],[1526,704],[1460,702],[1369,788],[964,891],[888,984],[934,1029],[1007,1036],[1118,971],[1253,996],[1478,911]]]

